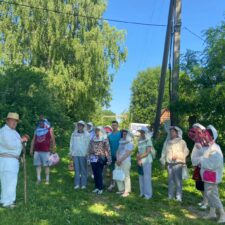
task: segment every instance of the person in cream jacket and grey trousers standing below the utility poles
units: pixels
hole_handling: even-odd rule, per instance
[[[182,201],[182,168],[189,154],[186,142],[182,139],[182,130],[179,127],[170,127],[170,136],[166,139],[160,162],[163,166],[167,164],[168,169],[168,197]]]

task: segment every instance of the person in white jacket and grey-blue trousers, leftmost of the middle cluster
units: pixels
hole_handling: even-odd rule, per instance
[[[80,120],[70,139],[69,155],[74,163],[74,189],[86,189],[87,186],[87,154],[90,135],[85,130],[85,122]]]

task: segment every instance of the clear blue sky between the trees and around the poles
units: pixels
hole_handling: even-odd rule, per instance
[[[169,0],[108,0],[105,18],[166,24]],[[201,35],[225,18],[224,0],[183,0],[182,25]],[[110,22],[126,31],[128,57],[116,73],[112,84],[110,109],[120,114],[129,109],[131,85],[139,71],[162,63],[166,28]],[[203,42],[186,30],[181,33],[181,53],[186,49],[202,50]]]

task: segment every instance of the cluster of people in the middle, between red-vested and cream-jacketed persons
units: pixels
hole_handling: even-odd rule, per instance
[[[92,167],[95,188],[94,193],[103,193],[103,169],[109,165],[111,169],[111,183],[108,187],[112,191],[116,184],[117,194],[129,196],[131,192],[131,154],[134,149],[133,135],[127,129],[119,131],[117,121],[112,121],[109,127],[93,127],[91,122],[85,124],[79,121],[71,135],[69,155],[74,163],[74,189],[85,189],[87,186],[87,164]],[[138,141],[137,164],[139,171],[140,196],[145,199],[152,197],[151,171],[155,151],[148,129],[142,127]],[[120,169],[124,179],[114,180],[113,171]]]

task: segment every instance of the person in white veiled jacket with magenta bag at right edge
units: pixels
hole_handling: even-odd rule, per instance
[[[217,130],[209,125],[207,131],[205,140],[208,143],[208,149],[200,159],[204,192],[210,205],[210,213],[205,216],[205,219],[216,218],[216,209],[218,209],[220,214],[218,223],[225,223],[225,212],[218,193],[218,184],[221,183],[223,176],[223,153],[220,146],[215,143],[218,137]]]

